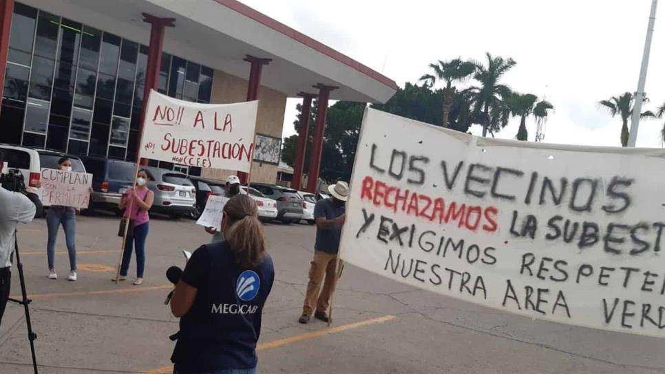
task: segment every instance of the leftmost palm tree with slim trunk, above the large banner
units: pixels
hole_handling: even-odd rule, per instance
[[[445,88],[443,89],[443,127],[448,126],[448,117],[450,116],[450,107],[452,106],[452,96],[455,93],[456,87],[452,84],[455,82],[463,82],[469,76],[474,74],[476,66],[473,63],[462,61],[461,58],[454,58],[450,61],[441,61],[439,63],[430,64],[430,68],[434,74],[425,74],[421,76],[420,80],[424,80],[427,85],[432,87],[436,80],[445,80]]]

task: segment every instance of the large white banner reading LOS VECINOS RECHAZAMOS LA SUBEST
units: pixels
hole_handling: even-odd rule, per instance
[[[341,259],[523,316],[663,338],[664,156],[367,109]]]

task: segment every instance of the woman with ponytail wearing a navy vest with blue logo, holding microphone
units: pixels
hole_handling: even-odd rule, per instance
[[[275,270],[251,197],[226,202],[222,233],[224,241],[193,252],[171,298],[173,316],[180,317],[173,373],[256,373],[256,342]]]

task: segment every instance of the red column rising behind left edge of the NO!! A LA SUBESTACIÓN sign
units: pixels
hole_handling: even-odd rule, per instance
[[[174,18],[159,18],[151,14],[143,13],[143,22],[151,24],[150,45],[148,50],[148,66],[145,71],[145,89],[143,90],[143,109],[141,110],[141,122],[138,129],[138,146],[136,147],[136,159],[141,165],[147,165],[145,158],[138,159],[140,151],[141,137],[143,136],[143,122],[145,121],[145,111],[148,109],[148,98],[150,90],[157,91],[159,88],[159,71],[162,66],[162,46],[164,45],[164,30],[175,26]]]

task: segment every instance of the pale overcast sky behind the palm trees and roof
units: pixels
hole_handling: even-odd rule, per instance
[[[598,101],[637,88],[651,7],[650,0],[241,1],[400,86],[439,59],[481,60],[485,52],[514,58],[517,65],[503,82],[556,107],[545,142],[608,146],[620,146],[621,120],[598,108]],[[661,25],[665,3],[656,15],[646,109],[665,102]],[[295,133],[296,103],[288,101],[284,135]],[[663,122],[642,120],[637,146],[662,146]],[[511,121],[498,137],[513,138],[517,126]],[[531,140],[536,124],[527,126]],[[480,126],[472,132],[479,134]]]

